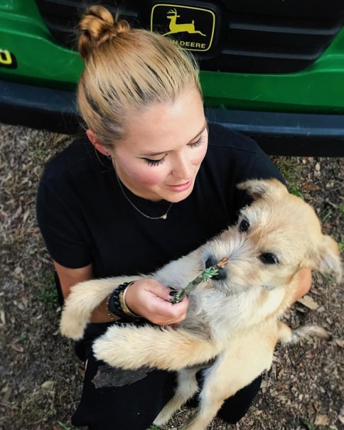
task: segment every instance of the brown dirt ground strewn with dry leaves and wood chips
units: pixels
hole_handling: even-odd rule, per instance
[[[0,430],[72,430],[82,369],[72,343],[58,333],[52,264],[35,218],[43,166],[70,138],[6,125],[0,133]],[[343,250],[344,158],[275,161]],[[287,317],[292,327],[322,325],[332,341],[278,347],[247,416],[235,426],[214,420],[209,429],[344,429],[343,288],[314,275],[310,294]],[[178,427],[187,413],[165,429]]]

